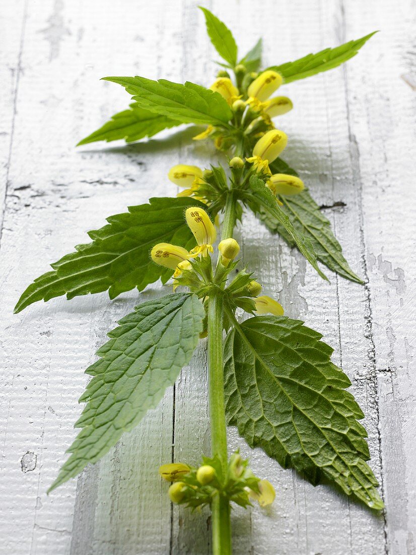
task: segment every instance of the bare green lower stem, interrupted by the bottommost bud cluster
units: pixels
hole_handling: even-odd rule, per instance
[[[211,425],[211,455],[217,455],[225,473],[228,465],[227,426],[225,424],[223,367],[223,300],[212,295],[208,308],[209,419]],[[230,505],[227,498],[217,495],[211,504],[212,552],[231,553]]]

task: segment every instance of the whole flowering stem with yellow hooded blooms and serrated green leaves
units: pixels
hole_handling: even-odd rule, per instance
[[[207,337],[210,456],[201,456],[197,468],[167,461],[160,473],[172,482],[172,502],[210,506],[213,551],[224,555],[231,549],[232,504],[246,507],[254,499],[264,506],[275,497],[273,486],[254,476],[248,461],[238,453],[228,457],[227,423],[237,426],[251,447],[263,448],[312,483],[325,477],[368,507],[383,507],[366,463],[367,434],[359,423],[364,415],[346,391],[350,380],[331,362],[332,349],[319,332],[284,316],[277,300],[261,294],[256,269],[248,260],[243,264],[233,238],[245,210],[252,210],[323,279],[317,261],[362,282],[309,190],[280,158],[290,138],[274,118],[292,103],[273,95],[280,85],[355,56],[372,34],[260,70],[261,39],[239,59],[229,29],[202,10],[209,37],[225,60],[210,88],[107,77],[126,88],[133,104],[79,144],[131,142],[183,123],[203,124],[206,129],[194,139],[214,140],[228,155],[227,167],[174,166],[168,177],[182,188],[176,198],[153,198],[107,218],[107,225],[89,232],[91,243],[77,246],[29,285],[16,312],[64,294],[71,299],[108,290],[113,299],[173,278],[173,292],[138,305],[97,351],[99,360],[86,370],[93,379],[80,398],[86,403],[75,424],[81,431],[50,490],[99,460],[155,408],[199,339]],[[250,317],[241,322],[237,309]]]

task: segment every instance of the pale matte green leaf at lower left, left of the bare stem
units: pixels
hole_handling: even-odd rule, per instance
[[[100,359],[85,371],[94,377],[80,398],[87,404],[75,427],[82,430],[49,491],[99,460],[156,408],[191,360],[203,317],[195,295],[172,294],[143,302],[110,331]]]

